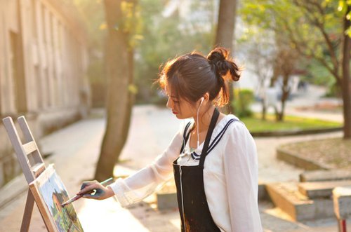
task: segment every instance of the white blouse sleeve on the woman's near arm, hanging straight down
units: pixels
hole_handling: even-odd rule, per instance
[[[261,232],[256,144],[244,123],[234,122],[228,130],[224,168],[231,228]]]

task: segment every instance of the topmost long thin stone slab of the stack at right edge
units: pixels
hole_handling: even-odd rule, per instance
[[[329,182],[351,180],[350,170],[314,170],[300,174],[300,182]]]

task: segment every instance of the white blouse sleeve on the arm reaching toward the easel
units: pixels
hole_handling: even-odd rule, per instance
[[[183,135],[178,132],[168,148],[152,164],[110,185],[122,207],[143,200],[172,177],[172,163],[178,158],[182,144]]]

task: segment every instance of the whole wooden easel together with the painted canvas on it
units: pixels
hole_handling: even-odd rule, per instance
[[[25,117],[18,118],[24,142],[21,141],[11,117],[4,118],[3,123],[30,188],[20,231],[29,230],[34,202],[37,203],[48,231],[83,231],[73,205],[60,207],[69,196],[53,165],[46,168]]]

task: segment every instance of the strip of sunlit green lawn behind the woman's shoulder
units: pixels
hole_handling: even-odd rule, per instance
[[[275,121],[275,116],[267,114],[266,120],[260,119],[260,114],[252,118],[240,118],[251,132],[277,131],[277,130],[308,130],[316,128],[335,128],[343,126],[342,123],[323,121],[316,118],[302,118],[298,116],[285,116],[284,121]]]

